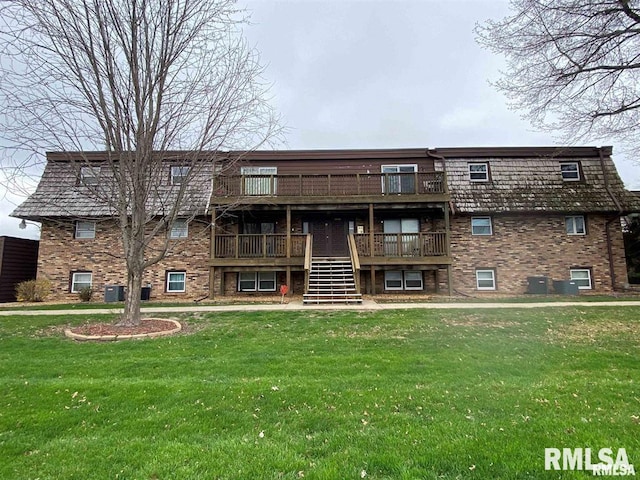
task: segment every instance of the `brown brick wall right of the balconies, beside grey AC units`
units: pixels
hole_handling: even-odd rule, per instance
[[[520,295],[527,277],[568,280],[571,268],[591,269],[593,293],[610,293],[612,277],[605,233],[608,217],[586,215],[587,234],[567,235],[564,215],[494,215],[493,235],[471,235],[471,217],[451,220],[453,285],[465,294],[492,293],[476,289],[477,268],[496,271],[493,293]],[[627,283],[624,244],[619,221],[610,225],[616,289]],[[582,291],[581,293],[587,293]]]

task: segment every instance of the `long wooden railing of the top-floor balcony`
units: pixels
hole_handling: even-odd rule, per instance
[[[214,196],[339,197],[446,193],[444,172],[231,175],[215,178]]]

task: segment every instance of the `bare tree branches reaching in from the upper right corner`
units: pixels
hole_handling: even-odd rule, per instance
[[[542,129],[640,147],[640,2],[511,0],[513,14],[476,27],[506,57],[496,82]]]

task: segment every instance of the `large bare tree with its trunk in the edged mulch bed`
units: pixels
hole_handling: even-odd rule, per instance
[[[144,271],[169,248],[152,250],[151,240],[201,207],[193,180],[213,174],[218,152],[255,149],[278,129],[241,36],[244,12],[235,0],[0,5],[0,135],[31,152],[5,154],[7,176],[41,171],[45,150],[76,151],[67,161],[78,178],[88,171],[84,194],[121,231],[121,323],[138,324]],[[105,152],[100,161],[77,153],[92,149]],[[168,186],[167,163],[180,177]]]

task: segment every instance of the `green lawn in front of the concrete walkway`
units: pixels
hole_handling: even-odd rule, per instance
[[[638,469],[635,311],[184,314],[102,344],[61,337],[86,318],[1,318],[0,478],[591,476],[545,447]]]

